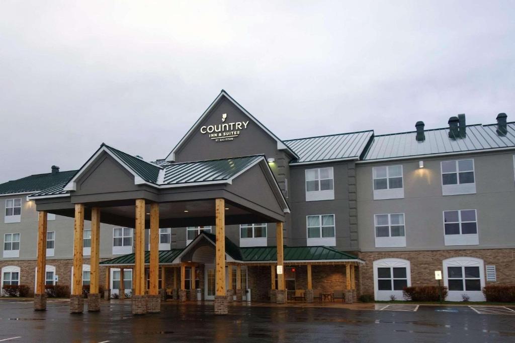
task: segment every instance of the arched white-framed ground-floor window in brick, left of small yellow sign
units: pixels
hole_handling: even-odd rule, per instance
[[[383,259],[373,262],[375,300],[404,300],[404,287],[411,286],[410,263],[402,259]]]

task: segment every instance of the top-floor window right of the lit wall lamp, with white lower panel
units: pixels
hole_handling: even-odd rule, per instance
[[[474,160],[440,162],[442,171],[442,195],[476,193]]]

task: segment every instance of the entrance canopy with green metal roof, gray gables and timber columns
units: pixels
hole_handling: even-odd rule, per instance
[[[99,308],[100,221],[135,231],[133,313],[159,311],[159,228],[216,226],[215,313],[227,313],[225,225],[277,222],[277,264],[283,265],[283,222],[289,212],[263,155],[158,165],[102,144],[66,182],[29,197],[39,211],[38,266],[45,265],[46,214],[75,218],[71,312],[82,312],[82,236],[91,220],[89,310]],[[150,227],[150,287],[145,297],[145,227]],[[38,268],[35,308],[46,308]],[[41,272],[40,272],[41,271]],[[284,289],[284,281],[279,288]],[[224,300],[225,299],[225,300]],[[157,300],[157,301],[156,301]]]

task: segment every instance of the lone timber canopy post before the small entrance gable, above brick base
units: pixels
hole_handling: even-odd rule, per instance
[[[226,296],[225,288],[225,199],[215,200],[216,295]]]

